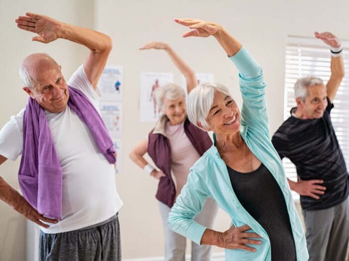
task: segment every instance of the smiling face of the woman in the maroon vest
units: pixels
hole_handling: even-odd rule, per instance
[[[164,113],[171,125],[182,123],[186,117],[185,98],[180,97],[175,100],[164,98]]]

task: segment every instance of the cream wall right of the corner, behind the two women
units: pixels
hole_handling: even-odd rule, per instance
[[[120,210],[123,258],[164,253],[161,218],[154,196],[157,182],[128,158],[131,148],[154,126],[138,120],[139,72],[172,71],[175,82],[180,83],[180,74],[165,52],[138,48],[150,41],[170,43],[195,71],[214,73],[218,81],[231,88],[241,104],[237,71],[221,47],[213,38],[181,38],[187,29],[175,24],[172,18],[201,18],[221,23],[263,66],[273,133],[283,120],[286,36],[332,31],[349,39],[348,8],[349,2],[344,0],[96,1],[96,29],[113,39],[109,63],[123,65],[125,71],[122,174],[117,177],[118,191],[125,203]],[[229,223],[220,212],[216,229],[227,229]]]

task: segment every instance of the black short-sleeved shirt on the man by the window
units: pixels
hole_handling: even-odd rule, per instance
[[[324,195],[318,195],[320,199],[300,197],[304,210],[335,206],[349,194],[346,162],[330,117],[333,107],[328,99],[328,106],[320,119],[302,120],[291,116],[271,140],[280,158],[287,157],[296,166],[301,180],[324,180],[320,185],[325,186],[326,191]]]

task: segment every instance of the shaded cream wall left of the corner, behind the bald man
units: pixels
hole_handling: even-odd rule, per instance
[[[93,27],[93,3],[93,0],[0,1],[0,127],[26,104],[28,96],[21,90],[18,74],[18,67],[26,56],[37,52],[48,53],[62,65],[63,74],[69,78],[88,53],[87,48],[64,40],[48,45],[31,42],[33,34],[18,29],[14,19],[25,12],[36,12],[68,23]],[[0,167],[0,176],[15,189],[19,188],[18,166],[19,160],[8,160]],[[25,260],[25,237],[24,217],[0,200],[0,260]]]

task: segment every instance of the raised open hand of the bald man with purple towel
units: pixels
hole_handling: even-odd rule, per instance
[[[32,41],[38,41],[45,44],[60,38],[63,28],[62,22],[36,13],[25,13],[25,16],[18,16],[18,19],[15,19],[15,22],[17,23],[18,28],[39,35],[33,37]]]

